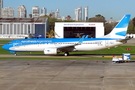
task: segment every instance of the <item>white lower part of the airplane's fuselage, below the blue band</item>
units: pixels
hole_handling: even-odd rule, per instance
[[[17,45],[13,43],[13,47],[9,48],[13,51],[44,51],[45,48],[58,48],[75,44],[77,42],[66,42],[66,43],[45,43],[45,44],[30,44],[30,45]],[[71,51],[95,51],[105,48],[110,48],[123,44],[116,40],[103,40],[103,41],[86,41],[80,45],[76,45]]]

